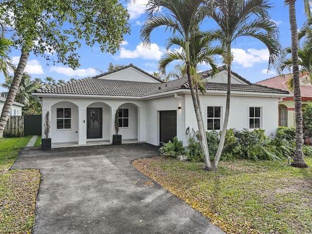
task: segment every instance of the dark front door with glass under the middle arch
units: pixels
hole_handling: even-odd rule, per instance
[[[102,138],[102,108],[87,108],[87,139]]]

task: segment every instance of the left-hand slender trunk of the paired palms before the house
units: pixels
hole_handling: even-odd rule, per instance
[[[200,117],[199,113],[199,108],[198,108],[198,103],[197,103],[197,98],[196,98],[196,93],[191,77],[191,71],[190,71],[190,42],[188,40],[185,41],[185,52],[186,52],[186,72],[187,72],[187,77],[189,80],[190,84],[190,90],[191,90],[191,96],[193,99],[193,104],[194,104],[194,109],[195,109],[195,115],[196,115],[196,120],[197,120],[197,125],[198,125],[198,131],[199,131],[199,142],[201,145],[201,149],[205,158],[205,169],[210,171],[212,170],[211,167],[211,162],[210,162],[210,157],[209,157],[209,152],[208,152],[208,146],[207,146],[207,139],[206,138],[206,132],[204,130],[202,118]]]

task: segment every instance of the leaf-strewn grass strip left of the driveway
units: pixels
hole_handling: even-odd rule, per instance
[[[39,170],[12,170],[24,138],[0,138],[0,233],[30,234],[35,224]]]

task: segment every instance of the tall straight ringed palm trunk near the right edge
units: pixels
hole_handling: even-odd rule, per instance
[[[304,161],[302,152],[303,132],[302,132],[302,110],[301,110],[301,94],[299,81],[299,62],[298,62],[298,32],[296,21],[295,0],[289,0],[289,21],[292,32],[292,73],[293,73],[293,96],[296,121],[296,149],[293,155],[293,167],[308,167]]]

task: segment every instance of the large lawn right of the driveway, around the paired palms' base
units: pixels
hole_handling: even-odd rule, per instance
[[[312,158],[306,163],[311,167]],[[312,233],[312,169],[282,161],[203,163],[167,156],[141,158],[134,167],[200,211],[226,233]]]

